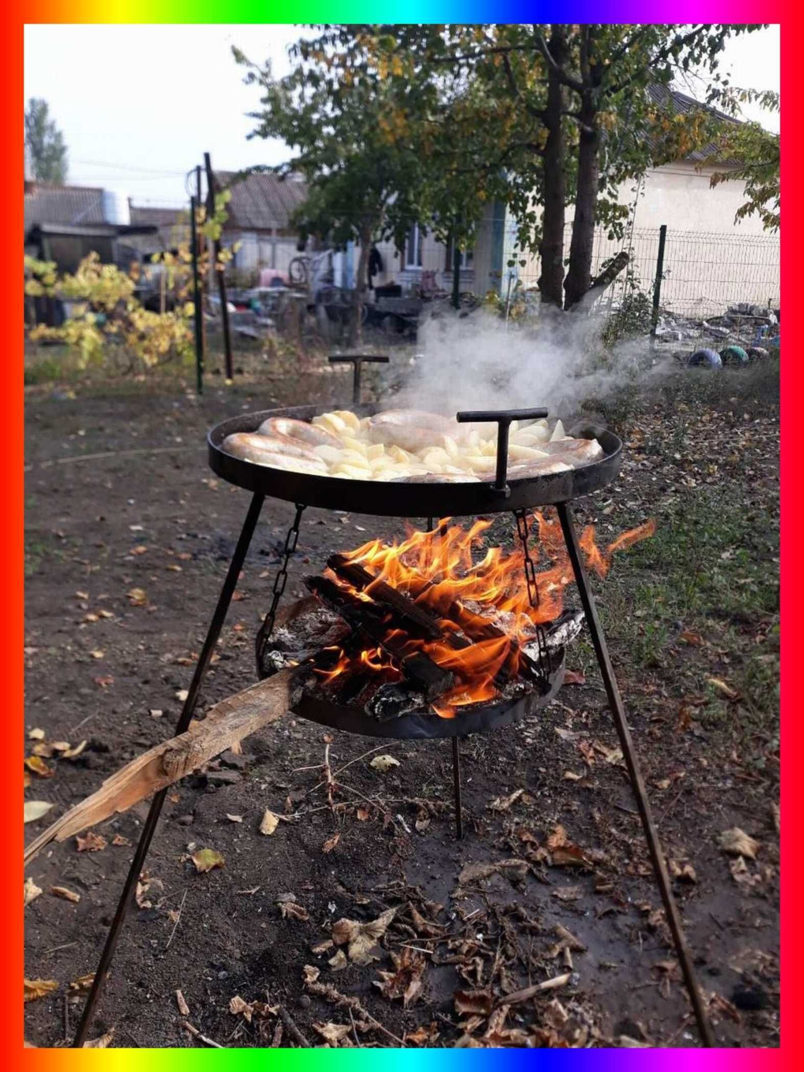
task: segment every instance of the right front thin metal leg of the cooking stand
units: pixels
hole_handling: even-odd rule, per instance
[[[576,535],[567,504],[559,503],[556,510],[559,511],[559,520],[561,521],[564,541],[567,545],[569,560],[572,563],[572,571],[575,574],[576,584],[578,585],[578,591],[581,596],[583,611],[586,615],[590,632],[592,634],[592,644],[595,649],[595,655],[597,656],[597,662],[600,668],[600,676],[602,678],[604,687],[606,688],[606,696],[608,697],[609,706],[611,708],[611,713],[614,717],[614,726],[616,727],[617,736],[620,738],[620,747],[623,750],[623,758],[625,759],[625,765],[628,769],[628,776],[630,778],[631,788],[634,789],[634,795],[637,801],[639,816],[642,820],[642,830],[645,835],[645,840],[647,842],[647,851],[651,857],[651,863],[653,864],[654,875],[656,876],[656,883],[659,888],[659,893],[661,894],[661,899],[665,905],[667,922],[673,936],[675,952],[679,957],[679,963],[681,964],[681,970],[684,976],[687,993],[689,994],[689,1000],[693,1003],[693,1012],[695,1013],[696,1023],[698,1024],[698,1031],[704,1046],[714,1046],[714,1036],[712,1034],[712,1028],[706,1016],[706,1010],[703,1004],[701,992],[698,988],[698,982],[693,968],[693,958],[689,954],[679,909],[675,905],[672,890],[670,888],[670,876],[668,875],[667,864],[665,863],[665,855],[661,851],[661,845],[659,844],[659,836],[653,821],[653,816],[651,815],[651,806],[647,803],[647,793],[645,792],[642,774],[637,763],[634,742],[631,741],[630,730],[628,729],[628,723],[625,716],[625,706],[620,696],[620,689],[617,688],[616,679],[614,678],[614,668],[612,667],[611,659],[609,658],[609,652],[606,646],[606,638],[604,637],[604,632],[600,627],[600,620],[597,616],[597,608],[595,607],[592,590],[589,586],[586,574],[583,568],[578,536]]]

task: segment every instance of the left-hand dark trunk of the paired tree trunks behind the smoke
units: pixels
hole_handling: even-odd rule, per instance
[[[550,34],[550,55],[559,66],[567,59],[567,43],[563,26],[553,26]],[[545,125],[548,130],[545,145],[544,176],[545,206],[541,218],[541,242],[539,257],[541,274],[538,287],[541,301],[549,306],[564,304],[564,207],[566,183],[564,179],[564,129],[562,108],[564,92],[560,76],[550,69],[548,71],[547,104],[545,106]]]

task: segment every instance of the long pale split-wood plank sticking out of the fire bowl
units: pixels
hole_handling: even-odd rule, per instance
[[[236,741],[276,723],[291,706],[294,668],[280,670],[217,703],[203,723],[194,723],[187,732],[170,738],[126,763],[86,800],[65,812],[53,825],[35,837],[25,850],[27,866],[50,842],[63,842],[116,812],[150,796],[159,789],[183,778]]]

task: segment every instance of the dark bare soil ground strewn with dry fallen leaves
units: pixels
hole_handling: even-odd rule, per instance
[[[26,798],[54,804],[29,831],[173,732],[249,502],[206,467],[205,429],[240,408],[348,397],[316,369],[215,384],[200,402],[179,382],[28,389],[26,755],[42,743],[33,729],[40,751],[87,742],[74,759],[40,757],[50,776],[29,772]],[[654,815],[718,1044],[775,1046],[773,373],[687,373],[602,411],[626,460],[577,520],[602,544],[649,517],[658,525],[594,582]],[[254,680],[292,515],[266,505],[199,712]],[[394,531],[309,510],[287,596],[331,551]],[[497,518],[489,542],[511,538]],[[462,843],[448,741],[377,747],[287,717],[174,787],[92,1037],[203,1045],[189,1022],[224,1046],[697,1045],[585,640],[568,665],[576,683],[547,710],[464,742]],[[379,773],[370,763],[385,753],[400,765]],[[286,819],[270,836],[258,832],[266,808]],[[43,892],[26,908],[26,976],[58,983],[26,1004],[34,1045],[64,1045],[75,1028],[146,812],[102,824],[96,851],[72,838],[29,868]],[[757,843],[747,854],[721,847],[733,828]],[[580,851],[556,851],[567,844]],[[202,848],[224,866],[198,874]],[[348,930],[354,948],[327,944]]]

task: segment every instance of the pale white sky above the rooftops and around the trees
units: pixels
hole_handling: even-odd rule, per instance
[[[135,204],[187,204],[185,176],[208,150],[214,166],[278,164],[282,143],[247,140],[258,89],[232,58],[288,70],[299,28],[276,26],[26,26],[25,95],[43,96],[64,133],[68,181],[105,187]],[[735,86],[779,88],[779,28],[731,40],[725,66]],[[748,118],[778,130],[778,117]]]

